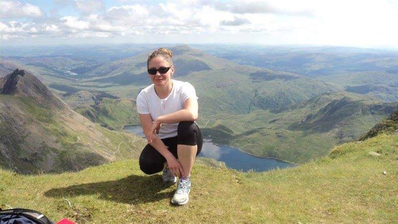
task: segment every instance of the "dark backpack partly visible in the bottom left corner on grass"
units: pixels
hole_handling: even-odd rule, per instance
[[[0,209],[0,224],[54,224],[40,212],[30,209]]]

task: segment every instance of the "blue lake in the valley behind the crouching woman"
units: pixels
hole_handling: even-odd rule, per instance
[[[140,125],[125,125],[124,129],[141,137],[145,137]],[[249,170],[261,172],[270,169],[282,169],[295,166],[294,164],[281,162],[276,159],[249,155],[227,145],[216,145],[211,142],[211,139],[203,139],[202,150],[198,156],[222,161],[228,168],[242,170],[244,172]]]

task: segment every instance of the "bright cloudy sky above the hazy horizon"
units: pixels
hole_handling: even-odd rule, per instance
[[[398,0],[0,0],[0,46],[245,43],[398,49]]]

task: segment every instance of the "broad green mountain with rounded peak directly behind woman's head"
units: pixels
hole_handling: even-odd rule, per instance
[[[331,85],[298,74],[243,66],[189,46],[171,47],[175,78],[189,81],[199,96],[202,114],[247,113],[285,106],[336,90]],[[89,72],[85,80],[106,85],[107,93],[135,98],[150,84],[146,60],[150,52],[113,61]]]

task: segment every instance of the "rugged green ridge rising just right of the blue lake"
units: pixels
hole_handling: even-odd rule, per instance
[[[398,108],[398,103],[348,92],[325,93],[298,104],[201,120],[203,136],[261,157],[303,163],[336,144],[357,139]]]

